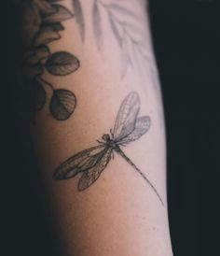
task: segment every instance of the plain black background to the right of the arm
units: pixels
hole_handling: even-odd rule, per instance
[[[219,235],[213,195],[219,201],[214,180],[220,171],[220,3],[152,0],[150,4],[167,125],[173,252],[216,255]]]

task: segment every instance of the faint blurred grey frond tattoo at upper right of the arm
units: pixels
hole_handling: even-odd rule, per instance
[[[111,1],[110,4],[105,4],[103,0],[94,0],[92,23],[94,37],[99,50],[102,50],[103,48],[102,10],[107,15],[107,20],[112,33],[115,36],[117,45],[121,51],[121,76],[123,78],[128,71],[129,65],[134,67],[134,63],[140,64],[140,62],[149,60],[149,54],[144,43],[144,38],[139,33],[139,25],[144,21],[140,21],[141,18],[135,14],[127,1],[122,2],[116,0]]]

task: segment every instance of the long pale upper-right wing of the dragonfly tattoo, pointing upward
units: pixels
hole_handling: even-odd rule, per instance
[[[114,139],[119,140],[130,135],[140,110],[140,98],[137,92],[131,92],[122,102],[114,127]]]

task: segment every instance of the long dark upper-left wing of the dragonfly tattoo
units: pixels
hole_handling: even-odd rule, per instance
[[[75,177],[79,172],[83,172],[93,167],[104,150],[104,145],[92,147],[78,152],[63,162],[54,172],[53,178],[67,179]]]

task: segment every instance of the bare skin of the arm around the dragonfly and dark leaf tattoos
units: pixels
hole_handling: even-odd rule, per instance
[[[37,7],[48,3],[34,2]],[[77,104],[69,93],[69,115],[56,118],[63,117],[63,104],[60,100],[58,111],[55,102],[55,114],[51,111],[53,92],[43,82],[47,100],[34,113],[32,131],[62,255],[171,256],[163,111],[144,1],[66,0],[59,5],[73,18],[61,21],[64,29],[59,39],[48,44],[49,50],[51,54],[68,52],[80,66],[74,69],[72,62],[74,71],[65,76],[46,70],[42,78],[55,90],[74,93]],[[118,109],[131,92],[139,95],[138,116],[150,118],[150,129],[123,151],[154,184],[164,206],[117,152],[100,178],[83,192],[77,190],[78,178],[53,178],[69,157],[96,146],[97,139],[110,134]]]

